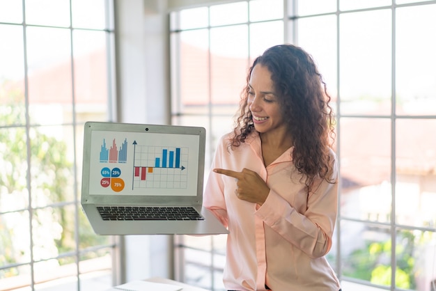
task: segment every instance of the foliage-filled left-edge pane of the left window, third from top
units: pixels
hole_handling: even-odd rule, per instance
[[[23,210],[29,206],[26,139],[24,127],[0,130],[0,212]]]

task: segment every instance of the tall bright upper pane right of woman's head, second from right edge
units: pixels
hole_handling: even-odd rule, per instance
[[[342,114],[391,113],[391,10],[341,15]]]

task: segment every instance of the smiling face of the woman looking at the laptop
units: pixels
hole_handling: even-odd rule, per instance
[[[264,65],[257,64],[251,71],[247,103],[254,128],[260,134],[286,134],[279,97],[274,92],[271,72]]]

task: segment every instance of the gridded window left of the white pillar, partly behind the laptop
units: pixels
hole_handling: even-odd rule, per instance
[[[0,1],[0,290],[102,290],[111,237],[80,207],[83,125],[111,120],[111,1]]]

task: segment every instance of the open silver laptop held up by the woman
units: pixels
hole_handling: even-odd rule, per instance
[[[88,122],[81,205],[99,235],[228,233],[202,207],[205,129]]]

